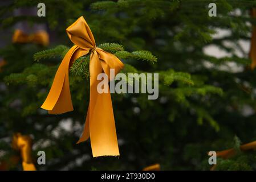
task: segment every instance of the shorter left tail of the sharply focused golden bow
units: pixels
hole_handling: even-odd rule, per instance
[[[73,110],[68,72],[71,57],[77,48],[77,46],[73,46],[64,56],[54,77],[50,92],[41,106],[42,109],[48,110],[49,114],[61,114]]]

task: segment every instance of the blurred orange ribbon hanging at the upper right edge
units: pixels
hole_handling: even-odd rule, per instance
[[[256,18],[256,8],[251,10],[251,17]],[[251,35],[250,58],[251,69],[254,69],[256,67],[256,26],[253,26],[253,33]]]

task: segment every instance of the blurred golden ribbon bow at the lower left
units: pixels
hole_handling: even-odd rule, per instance
[[[21,151],[22,167],[24,171],[36,171],[31,157],[32,140],[28,135],[17,133],[13,136],[12,146],[15,150]]]

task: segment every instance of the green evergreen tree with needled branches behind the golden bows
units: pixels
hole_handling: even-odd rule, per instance
[[[0,159],[18,155],[11,147],[14,133],[33,137],[33,158],[46,152],[43,169],[161,169],[209,170],[208,151],[238,148],[256,139],[255,70],[248,50],[250,10],[256,1],[119,0],[44,1],[46,17],[14,17],[17,7],[36,1],[14,1],[1,7],[1,32],[12,32],[21,20],[47,23],[50,47],[13,44],[1,34],[0,55],[7,64],[0,73]],[[159,98],[147,94],[112,94],[120,158],[92,158],[89,142],[75,144],[82,133],[89,102],[89,57],[74,61],[70,89],[74,111],[48,115],[39,109],[60,61],[72,46],[66,28],[83,15],[97,46],[119,57],[123,73],[159,73]],[[215,36],[226,31],[224,36]],[[51,39],[52,40],[52,39]],[[209,55],[209,46],[227,56]],[[240,68],[235,71],[232,68]],[[248,112],[250,111],[250,112]],[[235,137],[237,136],[237,137]],[[234,139],[235,138],[235,139]],[[235,142],[233,142],[233,140]],[[239,142],[241,140],[242,142]],[[254,151],[237,151],[217,159],[216,169],[255,169]],[[21,169],[11,164],[9,169]]]

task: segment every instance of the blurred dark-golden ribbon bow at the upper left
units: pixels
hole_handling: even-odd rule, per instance
[[[49,44],[48,33],[44,30],[27,35],[21,30],[15,30],[13,34],[13,43],[35,43],[47,46]]]

